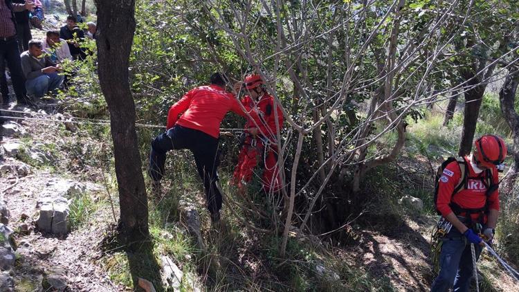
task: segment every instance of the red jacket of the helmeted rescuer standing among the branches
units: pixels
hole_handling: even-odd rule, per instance
[[[255,102],[253,98],[246,95],[242,103],[246,109],[253,109]],[[256,104],[257,112],[259,116],[251,116],[247,119],[245,129],[258,128],[258,134],[266,138],[271,139],[272,142],[276,140],[276,122],[274,113],[274,98],[271,95],[265,93]],[[277,127],[281,129],[283,127],[283,112],[280,107],[275,107],[277,110]]]

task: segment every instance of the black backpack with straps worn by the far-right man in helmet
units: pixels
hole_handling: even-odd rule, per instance
[[[459,215],[462,212],[465,212],[466,215],[488,212],[488,207],[489,207],[488,198],[499,187],[499,183],[493,182],[493,170],[492,169],[484,170],[484,172],[486,172],[486,174],[485,174],[484,179],[482,179],[482,182],[486,186],[485,195],[486,195],[487,199],[486,199],[485,206],[482,208],[475,208],[475,209],[461,208],[459,205],[457,205],[457,203],[454,203],[452,201],[452,199],[455,196],[455,194],[468,188],[469,177],[468,177],[468,169],[467,169],[467,165],[466,165],[467,163],[465,161],[465,158],[463,158],[463,157],[449,157],[443,163],[441,163],[441,165],[439,165],[438,170],[436,172],[436,176],[435,176],[435,209],[436,209],[437,214],[441,215],[440,212],[436,208],[437,199],[438,199],[439,179],[444,174],[445,167],[447,167],[447,165],[449,165],[449,163],[452,163],[454,161],[456,161],[457,165],[459,166],[459,170],[461,172],[461,178],[459,179],[459,182],[454,187],[453,195],[450,198],[450,200],[451,200],[450,204],[449,204],[450,208],[453,210],[455,215]],[[466,216],[466,217],[467,217],[468,221],[471,221],[471,216]]]

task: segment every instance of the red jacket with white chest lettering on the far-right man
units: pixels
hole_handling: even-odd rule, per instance
[[[467,209],[482,208],[486,204],[486,186],[482,181],[482,178],[486,177],[486,171],[476,174],[467,157],[465,157],[465,161],[467,162],[466,171],[468,175],[466,189],[453,196],[455,186],[459,183],[459,180],[462,179],[461,170],[459,170],[459,165],[456,161],[449,163],[447,167],[445,167],[444,172],[439,179],[436,207],[444,217],[449,215],[450,212],[453,212],[450,206],[448,206],[451,201],[457,203],[459,207]],[[493,183],[498,183],[498,170],[496,170],[495,167],[492,170],[492,173]],[[495,190],[495,192],[490,194],[488,200],[489,209],[499,210],[498,190]],[[478,216],[478,214],[473,214],[472,218],[477,219]]]

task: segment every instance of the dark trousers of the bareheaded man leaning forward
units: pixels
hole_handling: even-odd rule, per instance
[[[160,181],[164,174],[166,152],[173,149],[190,149],[197,171],[203,181],[208,210],[215,214],[221,209],[221,192],[218,188],[218,139],[203,131],[176,125],[152,141],[149,154],[149,176]]]

